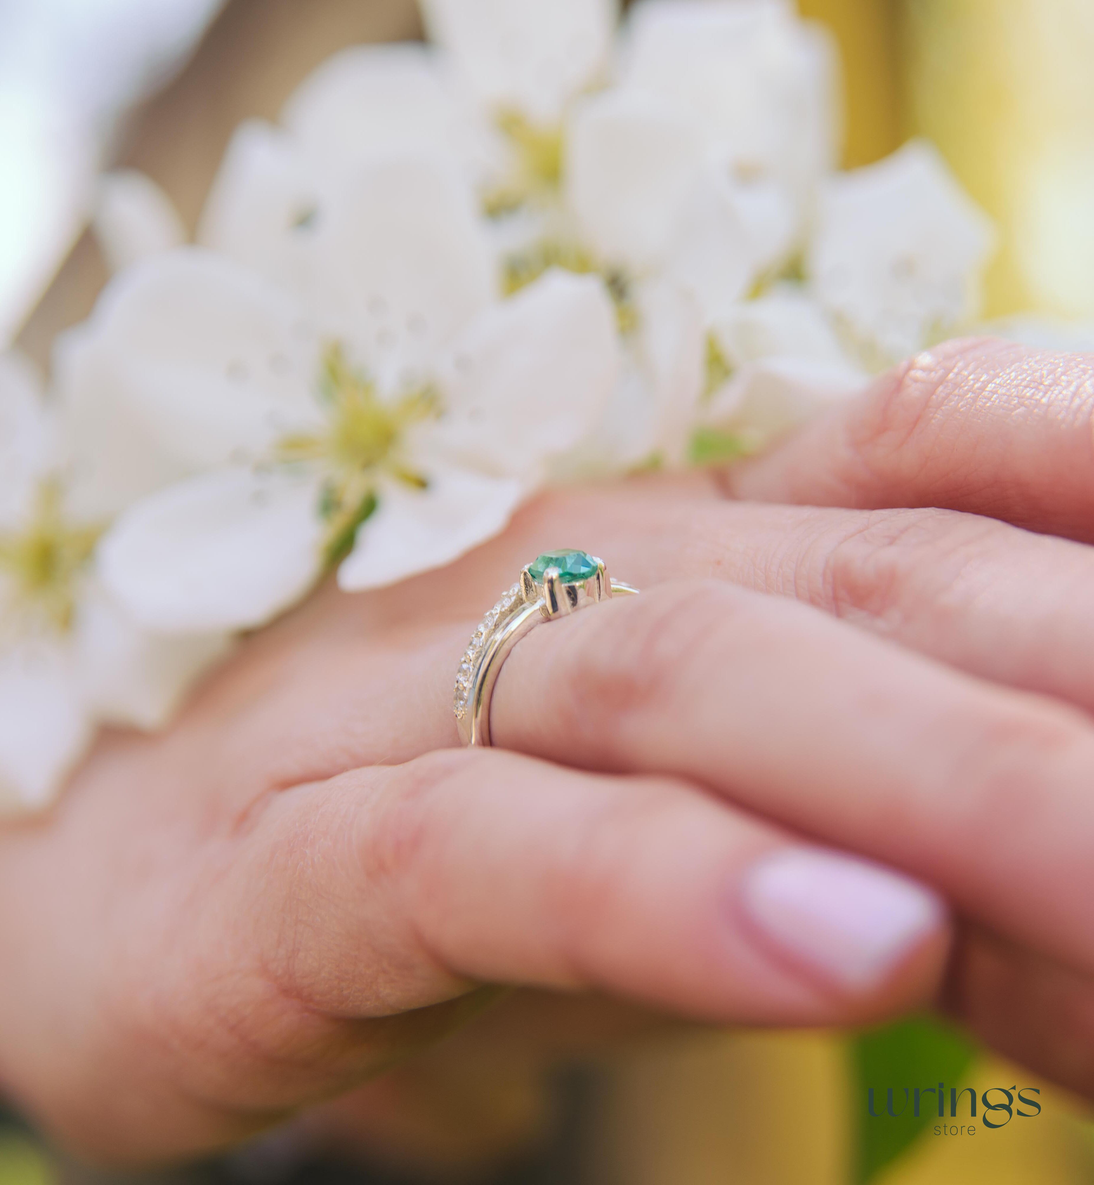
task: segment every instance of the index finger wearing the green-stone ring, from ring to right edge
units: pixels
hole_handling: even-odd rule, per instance
[[[1094,969],[1094,730],[805,606],[666,585],[533,630],[495,744],[710,786]]]

